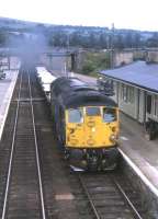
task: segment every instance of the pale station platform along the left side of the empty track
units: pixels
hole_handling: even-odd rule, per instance
[[[12,99],[19,70],[7,70],[5,79],[0,80],[0,139]]]

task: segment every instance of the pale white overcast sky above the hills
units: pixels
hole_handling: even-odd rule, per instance
[[[0,16],[158,31],[158,0],[0,0]]]

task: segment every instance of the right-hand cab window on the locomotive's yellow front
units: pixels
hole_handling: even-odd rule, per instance
[[[112,123],[116,120],[116,110],[104,107],[103,108],[103,122]]]

